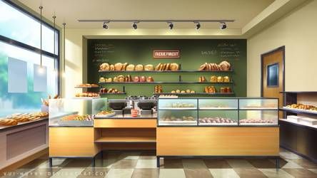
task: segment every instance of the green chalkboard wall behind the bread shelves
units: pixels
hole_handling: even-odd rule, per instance
[[[89,39],[87,41],[88,82],[98,83],[99,77],[114,77],[121,73],[99,73],[101,63],[153,64],[180,63],[181,70],[198,70],[202,63],[228,61],[233,73],[131,73],[132,76],[152,76],[155,81],[198,81],[199,76],[208,80],[211,75],[229,75],[236,97],[246,97],[246,40],[245,39]],[[180,58],[155,59],[154,50],[179,50]],[[129,73],[123,73],[127,75]],[[196,90],[211,84],[161,84],[163,92],[171,90]],[[126,95],[148,95],[154,92],[155,84],[105,84],[105,88],[126,88]],[[214,85],[216,88],[226,85]],[[107,98],[125,98],[126,95],[106,95]],[[233,95],[231,95],[232,97]],[[199,97],[211,97],[199,95]]]

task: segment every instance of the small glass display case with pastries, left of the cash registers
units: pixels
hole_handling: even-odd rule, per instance
[[[93,126],[94,116],[107,110],[106,98],[49,100],[49,126]]]

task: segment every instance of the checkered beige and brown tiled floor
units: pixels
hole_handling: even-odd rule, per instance
[[[91,167],[89,159],[54,159],[47,156],[7,172],[5,177],[317,177],[317,164],[281,149],[281,169],[273,159],[161,159],[156,168],[155,152],[105,152]]]

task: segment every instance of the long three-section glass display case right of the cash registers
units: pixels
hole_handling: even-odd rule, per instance
[[[278,98],[159,98],[158,126],[278,125]]]

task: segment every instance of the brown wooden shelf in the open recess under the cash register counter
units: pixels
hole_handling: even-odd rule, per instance
[[[108,143],[108,142],[156,142],[156,137],[146,136],[112,136],[112,137],[100,137],[95,140],[96,143]]]

